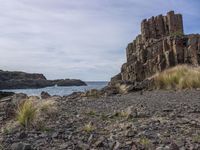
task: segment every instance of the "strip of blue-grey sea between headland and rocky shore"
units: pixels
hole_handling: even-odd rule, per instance
[[[10,89],[2,90],[6,92],[25,93],[28,96],[40,96],[41,92],[48,92],[50,95],[66,96],[73,92],[85,92],[90,89],[101,89],[108,82],[86,82],[87,86],[51,86],[39,89]]]

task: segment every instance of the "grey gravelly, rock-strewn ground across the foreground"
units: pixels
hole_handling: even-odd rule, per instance
[[[13,118],[4,116],[2,149],[200,149],[198,90],[140,91],[100,98],[74,95],[49,97],[56,101],[57,112],[38,129],[11,129],[8,124]],[[16,102],[27,97],[12,98]]]

